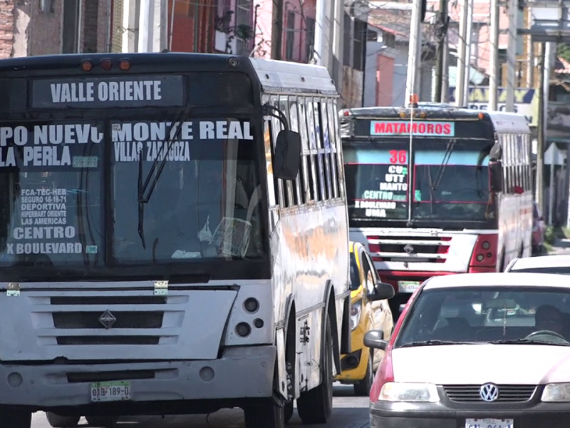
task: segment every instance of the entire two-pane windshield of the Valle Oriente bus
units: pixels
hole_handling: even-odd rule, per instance
[[[176,141],[166,117],[1,126],[0,266],[260,258],[254,124],[179,126]],[[139,180],[162,159],[141,210]]]

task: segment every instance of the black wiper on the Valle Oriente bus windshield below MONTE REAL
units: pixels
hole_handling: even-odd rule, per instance
[[[139,156],[138,156],[138,235],[140,236],[140,241],[142,242],[142,248],[147,248],[147,245],[145,243],[145,203],[148,203],[148,201],[150,200],[150,196],[152,196],[152,192],[155,190],[156,187],[156,183],[158,182],[158,179],[160,178],[160,174],[162,174],[162,170],[164,170],[165,165],[166,165],[166,160],[168,158],[168,152],[170,151],[170,148],[172,147],[172,144],[175,143],[175,141],[177,141],[178,137],[180,136],[180,131],[182,131],[182,120],[187,118],[187,116],[190,114],[190,108],[185,108],[184,110],[180,111],[177,114],[177,118],[175,118],[174,121],[172,121],[172,125],[170,125],[170,128],[168,129],[168,139],[165,143],[165,145],[162,146],[162,150],[157,154],[157,157],[155,158],[155,160],[152,162],[152,165],[150,165],[150,170],[147,173],[147,177],[145,178],[144,183],[142,182],[142,151],[140,151]],[[176,128],[176,132],[174,134],[172,134],[172,129],[177,126]],[[165,153],[163,153],[165,152]],[[160,156],[163,155],[164,157],[162,158],[162,160],[160,160],[160,165],[158,166],[158,170],[157,168],[157,164],[158,161],[160,159]],[[154,180],[152,180],[152,182],[150,181],[152,179],[152,176],[154,175]],[[145,193],[147,192],[147,195],[145,195]]]

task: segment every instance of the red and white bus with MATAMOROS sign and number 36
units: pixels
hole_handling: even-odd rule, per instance
[[[343,110],[351,240],[394,285],[395,317],[434,275],[531,255],[531,131],[517,113],[447,104]]]

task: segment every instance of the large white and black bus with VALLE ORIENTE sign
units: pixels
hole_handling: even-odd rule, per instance
[[[294,399],[325,423],[350,352],[326,68],[78,54],[0,76],[0,426],[242,407],[273,428]]]

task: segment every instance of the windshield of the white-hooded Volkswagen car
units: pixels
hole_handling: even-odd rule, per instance
[[[454,287],[423,290],[418,295],[395,347],[433,340],[570,345],[569,339],[570,290]]]

